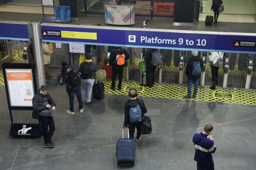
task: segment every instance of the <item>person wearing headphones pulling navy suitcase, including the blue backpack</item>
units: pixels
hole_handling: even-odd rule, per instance
[[[129,126],[129,138],[132,139],[134,139],[134,132],[136,127],[136,141],[139,141],[139,139],[141,139],[141,132],[139,131],[139,127],[143,124],[144,113],[147,112],[147,109],[143,100],[136,98],[138,93],[135,88],[131,88],[128,95],[131,97],[131,99],[125,102],[125,121],[123,123],[123,127],[126,128]]]

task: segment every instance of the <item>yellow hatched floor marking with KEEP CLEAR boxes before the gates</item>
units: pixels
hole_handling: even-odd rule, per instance
[[[142,87],[142,91],[139,91],[139,96],[143,97],[156,97],[162,99],[184,99],[183,96],[187,95],[186,85],[170,85],[170,84],[155,84],[152,88],[141,86],[138,82],[122,82],[122,90],[112,91],[110,90],[111,80],[107,80],[105,85],[105,94],[118,94],[127,95],[128,90],[126,86]],[[118,86],[118,81],[116,87]],[[192,92],[194,87],[192,86]],[[232,98],[219,98],[213,97],[214,93],[232,94]],[[198,87],[198,93],[196,99],[190,99],[202,102],[223,102],[230,104],[243,104],[243,105],[256,105],[256,91],[251,90],[238,90],[229,88],[216,88],[215,91],[210,90],[209,87]]]

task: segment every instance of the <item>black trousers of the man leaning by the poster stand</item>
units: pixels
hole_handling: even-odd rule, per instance
[[[39,115],[39,118],[42,124],[43,139],[45,140],[45,144],[50,143],[51,137],[53,137],[53,133],[55,131],[53,116]]]

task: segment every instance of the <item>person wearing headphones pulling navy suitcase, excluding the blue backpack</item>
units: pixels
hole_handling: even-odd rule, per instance
[[[137,99],[136,96],[138,95],[137,90],[132,88],[129,90],[129,96],[131,97],[130,100],[125,102],[125,121],[123,122],[123,127],[127,127],[129,125],[129,138],[134,139],[134,132],[135,132],[135,127],[137,129],[137,136],[136,136],[136,141],[139,141],[141,138],[141,132],[139,131],[139,127],[143,124],[143,121],[140,122],[134,122],[132,123],[130,121],[130,115],[129,115],[129,110],[130,108],[136,107],[137,104],[139,104],[142,112],[142,118],[144,118],[144,113],[147,112],[147,109],[145,107],[144,101],[142,99]]]

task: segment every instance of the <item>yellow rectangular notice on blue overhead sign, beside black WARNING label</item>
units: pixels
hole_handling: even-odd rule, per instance
[[[97,33],[61,31],[61,37],[71,39],[97,40]]]

